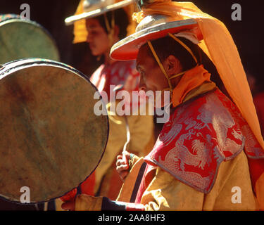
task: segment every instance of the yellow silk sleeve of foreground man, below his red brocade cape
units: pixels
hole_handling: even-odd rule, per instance
[[[142,196],[145,210],[258,210],[244,151],[222,162],[214,186],[204,194],[158,168]]]

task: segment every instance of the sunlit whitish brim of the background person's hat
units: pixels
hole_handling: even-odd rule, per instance
[[[72,16],[70,16],[68,18],[65,18],[64,22],[65,22],[65,25],[72,25],[73,23],[75,23],[78,20],[94,18],[94,17],[96,17],[98,15],[101,15],[103,13],[107,13],[108,11],[113,11],[115,9],[123,8],[125,6],[128,6],[128,5],[132,4],[133,2],[134,2],[134,0],[120,1],[118,3],[112,4],[112,5],[103,7],[103,8],[97,8],[94,11],[81,13],[79,15],[72,15]]]

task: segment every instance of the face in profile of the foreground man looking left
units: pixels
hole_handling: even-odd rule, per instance
[[[149,56],[148,51],[148,46],[144,45],[139,49],[137,55],[137,70],[140,74],[139,89],[153,91],[154,101],[156,101],[155,91],[162,91],[168,88],[168,81],[158,63],[156,63],[153,57]]]

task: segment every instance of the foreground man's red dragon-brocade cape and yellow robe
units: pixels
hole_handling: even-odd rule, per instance
[[[257,210],[248,160],[263,158],[237,107],[219,89],[179,105],[144,158],[135,197],[143,210]],[[137,160],[135,158],[134,160]],[[137,160],[118,201],[129,202]],[[136,186],[136,185],[135,185]],[[237,189],[240,188],[240,189]],[[234,200],[240,190],[240,202]],[[133,210],[128,205],[127,210]]]

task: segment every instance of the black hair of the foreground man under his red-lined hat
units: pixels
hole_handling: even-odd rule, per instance
[[[208,70],[208,72],[210,72],[210,80],[212,82],[215,82],[218,88],[228,96],[227,91],[225,90],[225,86],[223,85],[222,80],[220,79],[220,76],[218,74],[218,70],[216,70],[215,65],[210,60],[210,58],[208,58],[206,53],[204,53],[197,44],[192,43],[188,39],[185,39],[183,37],[177,38],[180,39],[184,44],[186,44],[189,49],[191,49],[191,51],[194,53],[194,56],[196,56],[196,59],[198,60],[198,64],[202,64],[203,67]],[[196,66],[196,62],[194,58],[192,58],[189,51],[184,49],[181,44],[175,41],[175,39],[172,39],[172,37],[170,36],[153,40],[151,41],[151,44],[153,45],[153,48],[155,49],[161,62],[168,58],[168,56],[172,55],[180,60],[180,63],[182,64],[182,71],[190,70],[191,68],[194,68]],[[155,60],[150,49],[149,56],[153,57],[153,59]]]

